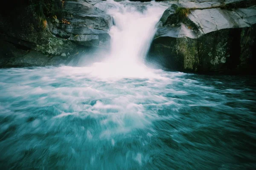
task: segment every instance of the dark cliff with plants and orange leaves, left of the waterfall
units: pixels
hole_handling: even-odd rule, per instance
[[[110,15],[83,0],[20,0],[3,8],[0,20],[0,66],[68,63],[108,48],[113,24]]]

